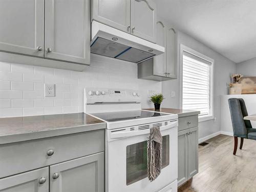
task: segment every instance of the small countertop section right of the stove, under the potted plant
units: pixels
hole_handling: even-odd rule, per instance
[[[160,108],[159,110],[155,110],[154,108],[149,108],[149,109],[143,109],[143,110],[178,114],[178,117],[200,114],[200,111],[183,110],[183,109],[172,109],[172,108]]]

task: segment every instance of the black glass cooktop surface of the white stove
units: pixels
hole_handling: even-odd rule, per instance
[[[92,113],[92,115],[103,119],[107,122],[118,122],[118,121],[125,121],[131,119],[138,119],[138,118],[147,118],[147,117],[154,117],[154,116],[165,116],[169,114],[159,113],[154,111],[118,111],[118,112],[108,112],[108,113]]]

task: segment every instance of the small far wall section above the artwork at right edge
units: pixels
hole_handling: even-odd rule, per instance
[[[256,57],[237,64],[237,73],[245,77],[256,76]]]

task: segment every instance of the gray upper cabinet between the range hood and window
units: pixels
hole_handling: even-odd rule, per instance
[[[165,47],[165,53],[138,63],[138,78],[154,81],[177,79],[177,34],[162,19],[156,22],[156,42]]]

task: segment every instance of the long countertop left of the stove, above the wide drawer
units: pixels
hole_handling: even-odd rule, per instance
[[[0,144],[104,129],[86,113],[0,118]]]

